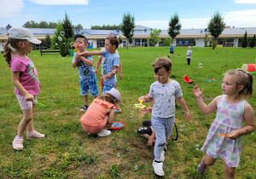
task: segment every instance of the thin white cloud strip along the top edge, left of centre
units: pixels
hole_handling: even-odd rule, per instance
[[[42,5],[88,5],[89,0],[29,0]]]

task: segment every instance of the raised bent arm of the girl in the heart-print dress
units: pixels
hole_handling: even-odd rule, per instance
[[[217,97],[215,97],[212,102],[210,102],[210,104],[206,104],[202,98],[201,95],[203,93],[204,89],[200,90],[199,86],[196,85],[193,89],[193,93],[195,95],[195,99],[197,101],[198,107],[201,109],[201,112],[203,114],[209,114],[214,112],[217,109],[217,101],[218,99],[221,97],[220,95],[218,95]]]

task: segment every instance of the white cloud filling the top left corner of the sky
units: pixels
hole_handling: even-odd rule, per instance
[[[23,7],[23,0],[1,1],[0,19],[10,18],[19,15]]]

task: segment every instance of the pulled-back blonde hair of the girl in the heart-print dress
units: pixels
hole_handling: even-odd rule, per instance
[[[230,70],[224,75],[232,75],[236,78],[236,88],[243,85],[243,89],[239,91],[239,95],[245,99],[250,99],[253,95],[253,75],[241,69]]]

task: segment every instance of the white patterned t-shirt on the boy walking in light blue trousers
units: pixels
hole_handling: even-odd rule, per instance
[[[158,81],[150,86],[149,97],[154,98],[152,115],[160,118],[170,118],[175,115],[175,97],[183,96],[177,81],[160,84]]]

